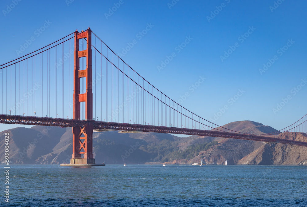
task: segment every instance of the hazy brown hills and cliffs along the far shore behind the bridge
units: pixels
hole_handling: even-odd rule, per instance
[[[224,125],[249,134],[276,131],[254,121]],[[10,133],[10,161],[14,164],[69,163],[72,155],[72,128],[18,127],[0,133],[0,154],[4,160],[4,133]],[[191,164],[203,161],[220,165],[307,165],[307,148],[300,146],[218,137],[176,137],[160,133],[94,132],[96,163],[144,164],[165,162]],[[307,141],[305,133],[282,133],[279,138]]]

